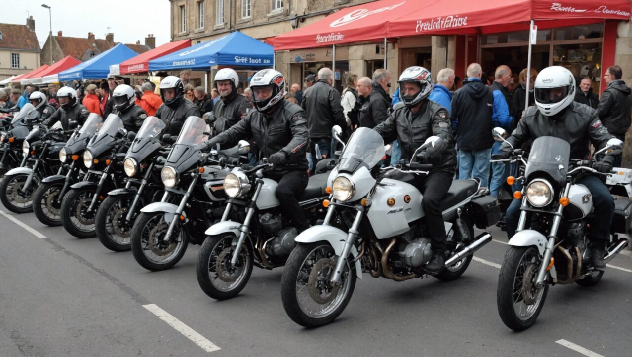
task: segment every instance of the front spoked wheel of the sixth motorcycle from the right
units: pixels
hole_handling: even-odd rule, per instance
[[[94,195],[94,188],[73,188],[61,201],[61,224],[68,233],[77,238],[91,238],[96,235],[94,220],[100,201],[97,199],[92,210],[88,211]]]

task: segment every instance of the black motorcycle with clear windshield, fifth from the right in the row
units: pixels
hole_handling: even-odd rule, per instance
[[[130,250],[131,227],[140,208],[158,202],[162,197],[164,184],[160,171],[164,156],[158,154],[166,155],[159,138],[165,126],[155,116],[143,121],[123,160],[123,169],[128,176],[125,187],[109,191],[97,210],[97,238],[109,250]]]

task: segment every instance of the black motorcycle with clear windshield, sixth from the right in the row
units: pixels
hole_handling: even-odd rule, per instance
[[[70,186],[61,201],[61,224],[77,238],[90,238],[95,233],[95,217],[99,205],[109,191],[121,188],[123,159],[133,140],[123,121],[109,114],[102,127],[92,136],[83,150],[83,164],[88,169],[83,181]]]

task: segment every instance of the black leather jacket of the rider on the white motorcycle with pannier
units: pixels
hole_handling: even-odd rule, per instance
[[[415,150],[422,146],[427,138],[436,135],[447,141],[447,148],[437,152],[427,164],[432,164],[432,171],[454,173],[456,167],[456,150],[452,137],[452,125],[447,109],[431,100],[424,99],[416,114],[410,108],[395,109],[384,123],[375,127],[382,135],[385,143],[397,139],[401,148],[401,157],[410,162]]]

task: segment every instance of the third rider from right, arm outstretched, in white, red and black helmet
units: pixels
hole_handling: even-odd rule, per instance
[[[239,140],[253,138],[259,145],[261,157],[267,157],[274,169],[266,176],[279,183],[276,197],[285,215],[291,218],[299,232],[309,226],[298,197],[307,186],[307,150],[309,133],[305,111],[288,102],[283,95],[285,80],[275,70],[261,70],[250,82],[256,111],[234,124],[229,130],[215,136],[207,147],[218,143],[235,145]],[[284,164],[291,167],[284,167]]]

